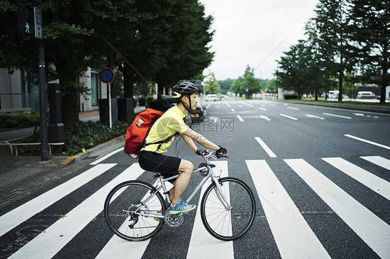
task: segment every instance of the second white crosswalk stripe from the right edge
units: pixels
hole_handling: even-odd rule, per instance
[[[330,163],[341,172],[346,173],[356,181],[361,182],[375,193],[382,195],[386,199],[390,200],[390,183],[384,181],[384,179],[373,175],[371,172],[355,166],[353,163],[342,159],[341,157],[324,158],[323,161]]]

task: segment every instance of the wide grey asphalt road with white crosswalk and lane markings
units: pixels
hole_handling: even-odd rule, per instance
[[[113,236],[103,202],[137,163],[118,146],[3,208],[1,258],[390,258],[390,116],[235,98],[209,105],[207,119],[192,127],[228,149],[228,175],[255,194],[244,237],[212,238],[196,212],[145,242]],[[202,162],[183,141],[175,151]],[[184,197],[201,178],[193,175]],[[154,182],[150,172],[137,179]],[[193,230],[202,228],[199,243]]]

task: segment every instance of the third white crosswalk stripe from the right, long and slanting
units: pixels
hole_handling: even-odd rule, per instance
[[[390,258],[390,225],[303,159],[285,162],[381,258]]]

